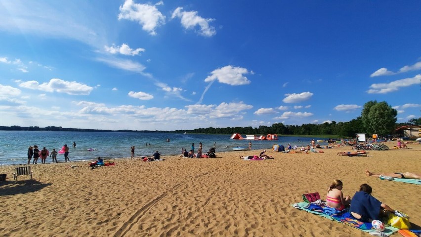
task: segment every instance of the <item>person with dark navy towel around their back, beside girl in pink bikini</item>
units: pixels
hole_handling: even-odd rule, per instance
[[[368,184],[362,184],[360,190],[355,192],[349,208],[349,212],[355,219],[362,222],[372,222],[373,220],[379,220],[379,216],[387,214],[387,211],[395,212],[388,205],[373,197],[372,192],[373,189]]]

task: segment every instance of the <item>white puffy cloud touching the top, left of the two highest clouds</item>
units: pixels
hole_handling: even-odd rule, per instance
[[[134,3],[126,0],[120,6],[119,20],[126,19],[138,22],[142,29],[150,35],[156,35],[155,29],[165,24],[165,16],[158,10],[157,5],[164,4],[162,1],[155,5]]]

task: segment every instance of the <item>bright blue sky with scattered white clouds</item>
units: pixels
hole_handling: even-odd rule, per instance
[[[421,1],[0,0],[2,126],[420,117]]]

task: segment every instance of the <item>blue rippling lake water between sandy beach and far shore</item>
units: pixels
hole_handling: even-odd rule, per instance
[[[190,150],[192,142],[195,144],[195,152],[199,148],[199,142],[203,144],[203,152],[207,152],[216,142],[216,155],[218,151],[232,151],[236,146],[248,146],[249,140],[233,140],[230,137],[231,135],[215,134],[0,131],[0,165],[26,163],[30,145],[38,145],[40,150],[45,146],[51,152],[53,148],[59,151],[64,144],[67,144],[71,161],[93,160],[98,156],[130,157],[132,145],[135,146],[135,156],[151,156],[156,150],[161,155],[181,154],[181,148]],[[170,142],[167,142],[167,139]],[[311,139],[323,140],[316,137],[278,137],[278,139],[252,141],[252,148],[271,149],[273,144],[287,146],[288,143],[301,146],[307,145]],[[76,142],[76,147],[72,147],[73,142]],[[90,148],[94,150],[88,151]],[[241,151],[238,152],[240,155]],[[57,160],[64,162],[64,155],[58,154]],[[47,157],[46,161],[50,163],[51,158]],[[38,163],[41,163],[41,159]]]

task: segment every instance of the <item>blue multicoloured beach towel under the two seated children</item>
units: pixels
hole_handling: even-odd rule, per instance
[[[342,224],[357,228],[358,230],[361,230],[367,233],[376,232],[375,229],[372,229],[373,226],[370,222],[361,222],[355,219],[351,215],[351,213],[349,213],[348,208],[345,208],[343,211],[337,211],[337,210],[334,211],[332,210],[332,208],[327,207],[325,205],[318,205],[318,204],[307,203],[307,202],[294,203],[293,206],[299,210],[304,210],[306,212],[310,212],[310,213],[325,217],[329,220],[340,222]],[[398,230],[399,229],[397,228],[386,226],[383,232],[386,235],[390,236],[391,234],[397,232]]]

